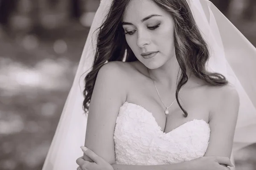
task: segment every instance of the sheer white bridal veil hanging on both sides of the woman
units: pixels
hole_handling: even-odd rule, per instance
[[[210,48],[209,71],[223,74],[239,92],[233,151],[256,143],[256,48],[209,0],[187,2]],[[76,159],[83,154],[80,146],[84,145],[87,124],[87,116],[82,110],[84,77],[93,64],[95,30],[108,14],[111,3],[112,0],[101,0],[96,11],[43,170],[76,170],[78,167]]]

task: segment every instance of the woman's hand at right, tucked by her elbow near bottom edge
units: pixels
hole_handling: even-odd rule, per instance
[[[234,167],[230,159],[223,156],[203,156],[188,162],[191,170],[230,170],[227,166]]]

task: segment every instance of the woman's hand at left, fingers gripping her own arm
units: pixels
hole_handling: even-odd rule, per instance
[[[113,170],[111,164],[96,155],[92,150],[84,146],[82,146],[81,149],[86,156],[93,160],[93,162],[85,161],[82,156],[79,159],[76,159],[76,163],[79,165],[77,170]]]

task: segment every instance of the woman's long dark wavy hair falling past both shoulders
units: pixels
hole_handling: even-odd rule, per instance
[[[122,15],[129,1],[113,0],[104,23],[98,28],[99,34],[93,68],[85,77],[83,102],[85,113],[88,113],[96,77],[102,65],[111,61],[123,61],[125,50],[127,50],[125,62],[138,60],[128,46],[122,28]],[[175,53],[180,65],[175,97],[183,111],[183,116],[187,117],[188,113],[180,105],[178,99],[178,92],[188,81],[187,71],[190,71],[195,77],[204,80],[210,85],[222,86],[228,82],[223,75],[207,71],[206,64],[209,59],[209,49],[195,23],[186,0],[152,1],[168,11],[174,19]]]

